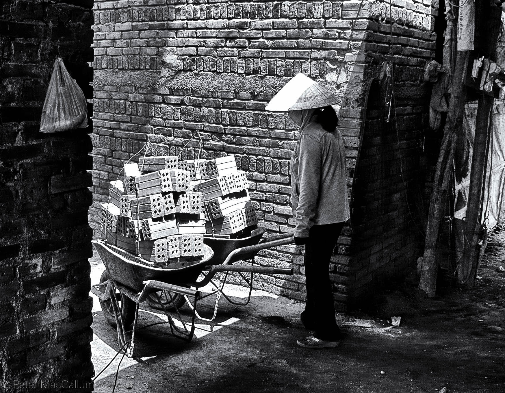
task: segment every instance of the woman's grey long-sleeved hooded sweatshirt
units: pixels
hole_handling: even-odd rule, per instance
[[[301,125],[290,161],[291,206],[294,235],[308,237],[313,225],[350,218],[345,148],[338,129],[328,132],[312,119],[314,110],[296,112],[302,114],[298,114]]]

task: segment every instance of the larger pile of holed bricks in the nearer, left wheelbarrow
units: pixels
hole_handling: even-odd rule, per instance
[[[185,168],[185,169],[181,169]],[[205,233],[195,163],[155,156],[123,166],[123,181],[111,181],[100,224],[109,243],[142,257],[141,263],[168,267],[180,257],[201,257]]]

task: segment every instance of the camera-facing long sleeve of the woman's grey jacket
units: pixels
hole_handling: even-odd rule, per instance
[[[307,237],[310,227],[314,225],[318,205],[322,145],[316,137],[308,134],[300,135],[298,143],[299,197],[294,234],[297,237]]]

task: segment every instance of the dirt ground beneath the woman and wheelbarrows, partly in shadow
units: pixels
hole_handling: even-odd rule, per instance
[[[197,329],[190,343],[170,335],[168,325],[139,330],[135,358],[123,359],[115,391],[505,392],[505,272],[499,271],[505,227],[498,229],[489,236],[482,278],[473,288],[444,288],[428,300],[415,279],[402,282],[375,297],[366,313],[337,316],[345,332],[337,349],[298,347],[296,339],[307,335],[299,321],[303,304],[254,292],[245,307],[222,299],[217,323],[226,326]],[[92,264],[95,283],[103,265],[96,258]],[[244,300],[242,288],[230,288],[234,300]],[[213,299],[201,303],[201,315],[212,316]],[[96,373],[118,348],[97,303]],[[140,326],[160,321],[157,310],[145,310],[150,313],[140,313]],[[401,317],[398,327],[391,326],[392,316]],[[96,392],[112,391],[119,359],[97,378]]]

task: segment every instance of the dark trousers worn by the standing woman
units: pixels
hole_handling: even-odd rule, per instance
[[[314,225],[305,245],[307,303],[300,318],[308,330],[322,340],[337,340],[340,329],[335,321],[335,304],[330,283],[330,258],[344,223]]]

